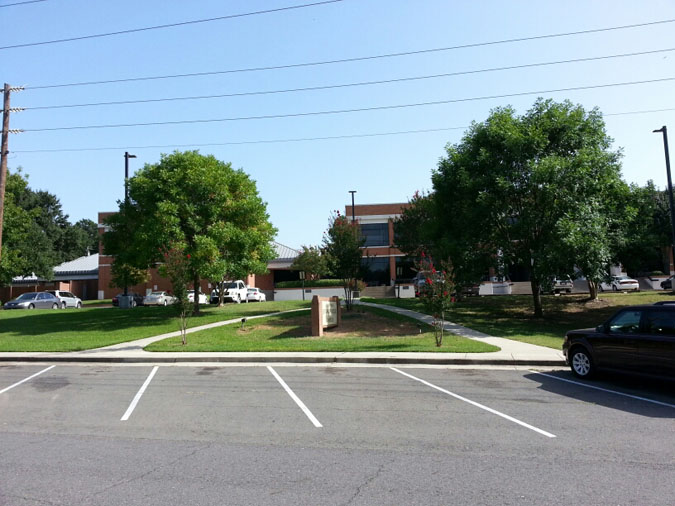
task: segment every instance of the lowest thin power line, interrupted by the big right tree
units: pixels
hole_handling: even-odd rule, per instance
[[[632,114],[650,114],[655,112],[670,112],[675,111],[675,107],[665,109],[646,109],[642,111],[624,111],[603,114],[603,116],[627,116]],[[287,139],[259,139],[253,141],[232,141],[232,142],[211,142],[211,143],[195,143],[195,144],[156,144],[146,146],[109,146],[97,148],[60,148],[60,149],[29,149],[12,151],[12,153],[62,153],[62,152],[82,152],[82,151],[119,151],[122,149],[162,149],[162,148],[198,148],[198,147],[212,147],[212,146],[238,146],[246,144],[278,144],[286,142],[307,142],[307,141],[324,141],[336,139],[358,139],[365,137],[384,137],[389,135],[405,135],[431,132],[444,132],[449,130],[465,130],[468,126],[443,127],[443,128],[424,128],[420,130],[399,130],[394,132],[375,132],[369,134],[347,134],[347,135],[329,135],[324,137],[295,137]]]

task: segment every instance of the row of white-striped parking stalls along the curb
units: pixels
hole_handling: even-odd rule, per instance
[[[619,434],[650,449],[651,439],[641,434],[672,422],[675,396],[626,390],[586,384],[567,371],[2,365],[0,423],[137,437],[304,436],[383,447],[392,432],[404,447],[438,447],[444,430],[486,442],[509,434],[512,444],[540,437],[615,443]]]

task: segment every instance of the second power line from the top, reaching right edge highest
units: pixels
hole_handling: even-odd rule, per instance
[[[496,41],[476,42],[476,43],[472,43],[472,44],[461,44],[461,45],[457,45],[457,46],[420,49],[420,50],[417,50],[417,51],[404,51],[404,52],[397,52],[397,53],[385,53],[385,54],[378,54],[378,55],[357,56],[357,57],[354,57],[354,58],[341,58],[341,59],[335,59],[335,60],[290,63],[290,64],[287,64],[287,65],[272,65],[272,66],[265,66],[265,67],[247,67],[247,68],[238,68],[238,69],[214,70],[214,71],[207,71],[207,72],[192,72],[192,73],[185,73],[185,74],[167,74],[167,75],[158,75],[158,76],[141,76],[141,77],[128,77],[128,78],[122,78],[122,79],[107,79],[107,80],[99,80],[99,81],[81,81],[81,82],[74,82],[74,83],[46,84],[46,85],[39,85],[39,86],[26,86],[26,89],[41,90],[41,89],[48,89],[48,88],[65,88],[65,87],[71,87],[71,86],[94,86],[94,85],[100,85],[100,84],[115,84],[115,83],[125,83],[125,82],[134,82],[134,81],[150,81],[150,80],[156,80],[156,79],[176,79],[176,78],[183,78],[183,77],[202,77],[202,76],[212,76],[212,75],[220,75],[220,74],[236,74],[236,73],[242,73],[242,72],[263,72],[263,71],[268,71],[268,70],[283,70],[283,69],[291,69],[291,68],[299,68],[299,67],[312,67],[312,66],[318,66],[318,65],[333,65],[333,64],[337,64],[337,63],[351,63],[351,62],[358,62],[358,61],[377,60],[377,59],[381,59],[381,58],[397,58],[397,57],[400,57],[400,56],[412,56],[412,55],[436,53],[436,52],[442,52],[442,51],[453,51],[453,50],[456,50],[456,49],[465,49],[465,48],[472,48],[472,47],[491,46],[491,45],[497,45],[497,44],[508,44],[508,43],[514,43],[514,42],[525,42],[525,41],[530,41],[530,40],[541,40],[541,39],[556,38],[556,37],[568,37],[568,36],[573,36],[573,35],[600,33],[600,32],[607,32],[607,31],[613,31],[613,30],[625,30],[625,29],[630,29],[630,28],[640,28],[640,27],[645,27],[645,26],[653,26],[653,25],[660,25],[660,24],[673,23],[673,22],[675,22],[675,19],[664,19],[664,20],[660,20],[660,21],[652,21],[652,22],[649,22],[649,23],[638,23],[638,24],[633,24],[633,25],[621,25],[621,26],[612,26],[612,27],[606,27],[606,28],[596,28],[596,29],[592,29],[592,30],[582,30],[582,31],[575,31],[575,32],[564,32],[564,33],[554,33],[554,34],[546,34],[546,35],[536,35],[536,36],[532,36],[532,37],[520,37],[520,38],[515,38],[515,39],[503,39],[503,40],[496,40]],[[0,49],[3,49],[3,48],[0,47]]]

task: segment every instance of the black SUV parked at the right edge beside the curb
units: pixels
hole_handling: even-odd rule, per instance
[[[675,377],[675,305],[625,307],[594,329],[570,330],[562,349],[579,378],[600,370]]]

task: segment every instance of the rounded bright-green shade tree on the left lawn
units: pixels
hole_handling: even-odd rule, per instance
[[[129,203],[120,203],[107,223],[106,254],[137,269],[161,264],[170,245],[181,244],[195,293],[201,279],[265,272],[273,257],[276,229],[255,182],[198,151],[145,165],[129,180]]]

